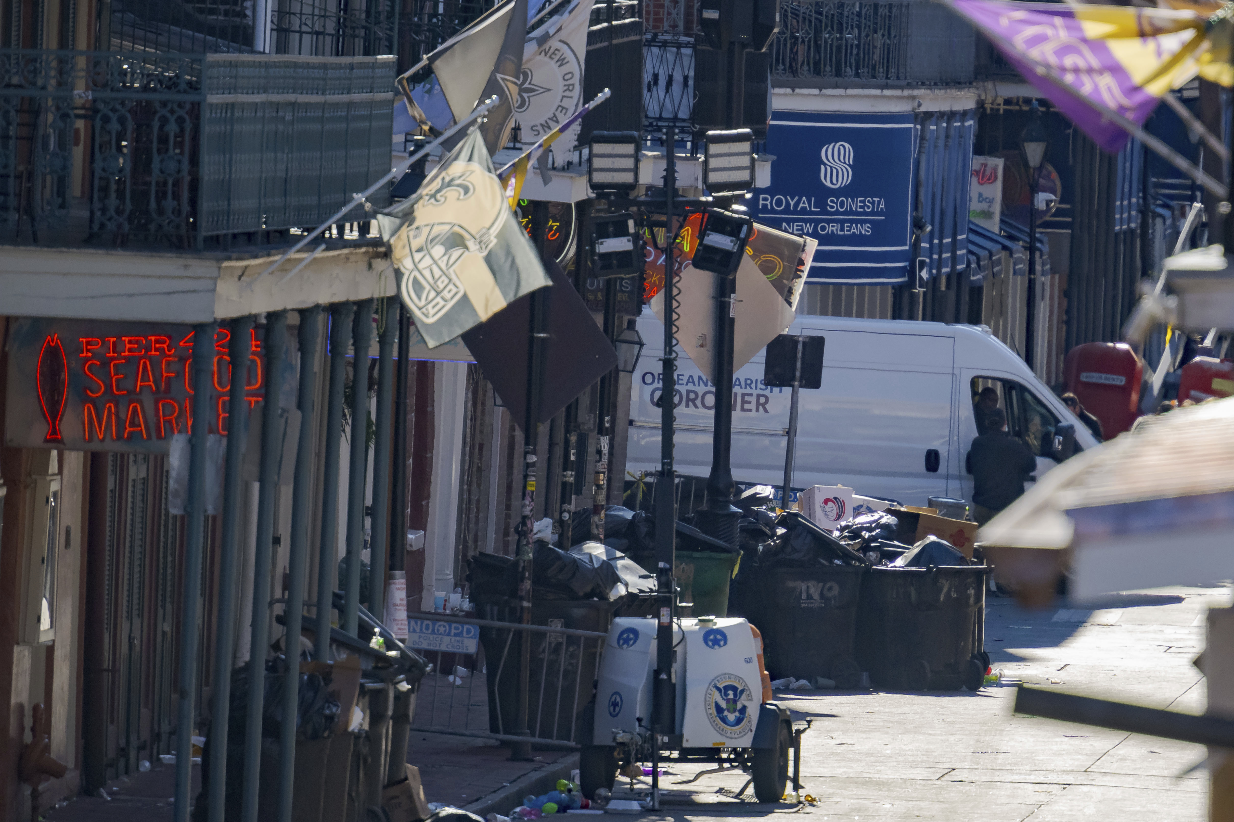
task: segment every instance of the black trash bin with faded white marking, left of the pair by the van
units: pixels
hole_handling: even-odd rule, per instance
[[[864,573],[860,566],[760,569],[761,603],[745,616],[763,633],[772,679],[826,677],[840,689],[858,686],[853,643]]]

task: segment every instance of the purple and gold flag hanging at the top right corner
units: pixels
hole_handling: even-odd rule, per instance
[[[1229,36],[1224,17],[1209,21],[1176,9],[943,1],[980,28],[1025,80],[1108,152],[1122,149],[1129,136],[1103,120],[1102,110],[1143,126],[1164,94],[1197,73],[1230,84],[1224,41],[1213,48]]]

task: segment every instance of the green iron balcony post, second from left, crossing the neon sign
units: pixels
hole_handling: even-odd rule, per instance
[[[215,620],[215,675],[211,688],[210,718],[210,822],[225,822],[227,801],[227,720],[231,715],[231,675],[236,657],[237,558],[239,555],[239,516],[244,508],[244,441],[248,437],[248,359],[253,350],[253,315],[231,322],[227,346],[230,385],[227,398],[227,462],[223,468],[222,539],[218,546],[218,604]]]

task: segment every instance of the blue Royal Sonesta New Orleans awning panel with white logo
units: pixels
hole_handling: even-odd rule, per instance
[[[814,282],[897,283],[912,245],[913,115],[776,111],[758,219],[818,240]]]

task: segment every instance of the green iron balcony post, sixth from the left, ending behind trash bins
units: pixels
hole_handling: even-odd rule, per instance
[[[364,548],[364,481],[369,458],[369,344],[373,341],[373,299],[355,303],[352,318],[352,428],[347,466],[347,585],[343,588],[343,630],[359,635],[360,551]]]

